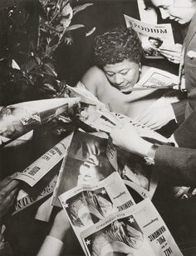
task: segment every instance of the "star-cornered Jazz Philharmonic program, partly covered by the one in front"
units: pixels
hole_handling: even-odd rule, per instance
[[[135,203],[118,173],[94,185],[73,188],[62,193],[59,199],[81,246],[81,231]]]

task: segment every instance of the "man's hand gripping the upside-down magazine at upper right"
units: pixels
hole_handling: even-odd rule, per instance
[[[176,43],[175,44],[175,50],[169,50],[164,48],[159,48],[158,51],[162,55],[164,55],[165,58],[169,60],[171,63],[179,64],[182,56],[182,44]]]

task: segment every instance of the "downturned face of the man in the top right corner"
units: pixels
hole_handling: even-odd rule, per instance
[[[177,23],[189,23],[196,11],[195,0],[151,0],[159,8],[163,19],[169,18]]]

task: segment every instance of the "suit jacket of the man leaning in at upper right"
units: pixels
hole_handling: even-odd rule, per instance
[[[196,58],[189,57],[187,53],[190,51],[196,53],[196,13],[184,39],[184,77],[188,101],[173,104],[178,123],[181,123],[184,118],[188,118],[196,107]]]

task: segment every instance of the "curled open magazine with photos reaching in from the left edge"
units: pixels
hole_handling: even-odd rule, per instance
[[[0,147],[76,106],[80,98],[51,98],[0,108]]]

